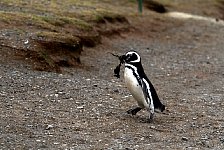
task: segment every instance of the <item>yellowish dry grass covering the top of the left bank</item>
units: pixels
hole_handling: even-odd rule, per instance
[[[93,31],[98,23],[127,22],[123,14],[135,12],[130,0],[2,0],[0,6],[2,28],[47,30],[69,36]]]

